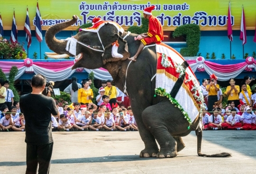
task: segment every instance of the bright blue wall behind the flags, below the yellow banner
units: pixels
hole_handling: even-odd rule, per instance
[[[10,39],[10,30],[4,31],[5,38]],[[43,36],[46,31],[43,31]],[[253,51],[256,51],[256,43],[253,42],[254,30],[247,30],[247,43],[244,46],[244,53],[249,53],[249,56],[252,55]],[[38,58],[40,59],[40,46],[37,41],[35,31],[32,31],[32,44],[29,48],[28,58],[33,58],[33,54],[36,51],[38,54]],[[66,39],[67,37],[71,37],[75,35],[76,31],[62,31],[56,34],[57,39]],[[243,47],[242,41],[239,39],[240,31],[233,31],[233,42],[232,42],[232,54],[235,55],[236,59],[243,58]],[[24,48],[27,50],[27,42],[26,42],[26,33],[22,30],[18,31],[18,42],[24,42]],[[179,46],[174,46],[174,49],[180,51],[181,47],[184,47],[184,44]],[[210,56],[212,52],[215,52],[216,58],[221,58],[221,54],[224,53],[226,59],[230,59],[230,42],[227,36],[227,31],[201,31],[201,39],[200,39],[200,50],[199,53],[206,58],[206,53],[209,52]],[[43,37],[43,41],[41,42],[41,56],[44,59],[43,55],[45,52],[52,52],[45,41],[45,37]]]

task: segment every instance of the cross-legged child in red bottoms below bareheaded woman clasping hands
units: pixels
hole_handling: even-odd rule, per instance
[[[227,127],[227,129],[236,130],[238,127],[242,127],[243,119],[237,114],[236,108],[231,109],[231,115],[228,116],[226,123],[221,124],[221,127]]]

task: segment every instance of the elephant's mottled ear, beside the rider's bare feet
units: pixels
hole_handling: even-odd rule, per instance
[[[118,36],[118,34],[116,34]],[[104,55],[103,55],[103,60],[108,60],[108,61],[118,61],[118,60],[126,60],[127,58],[130,57],[130,53],[128,52],[128,44],[127,41],[123,40],[120,37],[117,37],[117,41],[119,43],[119,47],[117,52],[123,56],[123,58],[113,58],[112,56],[112,47],[113,45],[110,44],[109,47],[106,48]],[[111,58],[111,60],[110,60]],[[115,59],[115,60],[113,60]]]

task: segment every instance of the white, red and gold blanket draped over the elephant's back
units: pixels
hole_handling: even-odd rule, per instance
[[[185,73],[183,83],[177,92],[175,99],[188,113],[193,122],[200,112],[203,104],[203,96],[200,85],[192,69],[183,68],[185,59],[173,48],[164,43],[156,44],[157,71],[156,88],[163,88],[170,94],[176,81]]]

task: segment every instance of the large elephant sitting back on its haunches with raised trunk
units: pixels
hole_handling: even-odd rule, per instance
[[[135,55],[140,41],[135,41],[137,34],[120,33],[114,25],[108,23],[101,27],[98,33],[81,31],[73,36],[83,44],[77,44],[73,54],[66,50],[66,40],[57,40],[55,34],[73,25],[78,17],[63,23],[51,26],[45,35],[46,44],[50,50],[58,54],[82,56],[74,64],[73,69],[84,67],[107,69],[113,78],[113,82],[119,89],[124,89],[130,98],[132,111],[137,122],[139,134],[144,141],[145,149],[140,152],[140,157],[175,157],[185,145],[182,137],[195,131],[197,135],[197,153],[202,157],[228,157],[229,153],[206,155],[201,153],[202,131],[198,126],[201,116],[197,118],[187,129],[189,123],[184,119],[183,113],[166,98],[154,97],[156,74],[155,47],[146,47],[138,56],[137,62],[130,62],[128,58]],[[98,36],[99,34],[99,36]],[[100,38],[100,39],[99,39]],[[122,58],[114,58],[111,54],[112,43],[118,41],[118,53]],[[93,48],[93,49],[92,49]],[[102,54],[103,53],[103,54]],[[160,149],[156,143],[158,142]]]

